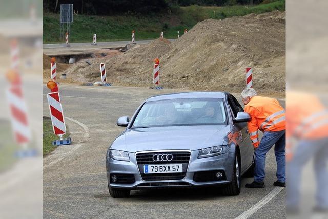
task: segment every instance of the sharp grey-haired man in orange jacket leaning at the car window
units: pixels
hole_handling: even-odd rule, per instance
[[[251,116],[251,121],[247,123],[247,126],[255,150],[254,181],[246,184],[246,187],[265,187],[265,157],[273,145],[275,145],[277,161],[277,181],[273,185],[285,187],[285,110],[276,99],[258,96],[253,88],[243,90],[241,97],[245,105],[244,111]],[[264,133],[261,142],[258,130]]]

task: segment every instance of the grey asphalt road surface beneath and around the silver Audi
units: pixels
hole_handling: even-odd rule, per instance
[[[107,188],[105,157],[114,138],[124,131],[120,116],[131,117],[152,95],[177,90],[131,87],[59,85],[66,123],[73,144],[58,147],[44,158],[43,216],[46,218],[235,218],[276,187],[273,150],[267,156],[266,187],[245,188],[253,178],[242,178],[238,196],[215,194],[215,188],[135,190],[131,197],[114,199]],[[43,87],[43,115],[49,116]],[[238,98],[238,96],[236,96]],[[284,107],[285,102],[280,100]],[[250,218],[285,217],[285,189]]]

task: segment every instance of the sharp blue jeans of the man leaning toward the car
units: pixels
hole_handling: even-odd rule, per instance
[[[255,150],[254,181],[263,182],[265,177],[265,156],[275,145],[275,155],[277,161],[276,176],[279,182],[286,182],[286,130],[266,131],[263,134],[260,144]]]

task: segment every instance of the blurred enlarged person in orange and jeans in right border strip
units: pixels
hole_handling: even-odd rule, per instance
[[[289,91],[286,97],[287,211],[299,211],[302,170],[313,157],[317,186],[314,210],[328,212],[328,109],[309,93]]]

